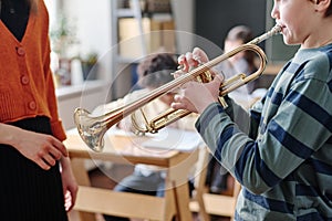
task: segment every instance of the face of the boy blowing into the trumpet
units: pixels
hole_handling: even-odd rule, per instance
[[[274,0],[271,17],[282,27],[286,44],[302,44],[311,41],[319,28],[314,14],[314,3],[310,0]]]

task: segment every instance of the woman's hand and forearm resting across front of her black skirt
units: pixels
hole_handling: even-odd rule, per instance
[[[0,144],[13,146],[44,170],[54,166],[61,157],[68,157],[64,145],[55,137],[6,124],[0,124]]]

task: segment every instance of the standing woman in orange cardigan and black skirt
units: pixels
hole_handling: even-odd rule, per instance
[[[62,144],[48,11],[42,0],[0,8],[1,220],[68,220],[77,185]]]

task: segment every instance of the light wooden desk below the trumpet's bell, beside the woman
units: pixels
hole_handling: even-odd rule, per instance
[[[193,151],[155,150],[138,148],[142,138],[105,136],[103,152],[90,150],[79,135],[68,135],[65,145],[72,159],[73,172],[80,185],[74,210],[81,221],[95,220],[94,213],[113,214],[149,220],[193,220],[189,210],[188,173],[198,159],[198,149]],[[84,159],[107,160],[117,164],[147,164],[165,168],[165,197],[114,192],[91,187],[84,168]]]

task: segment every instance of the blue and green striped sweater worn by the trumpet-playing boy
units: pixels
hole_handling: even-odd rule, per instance
[[[332,45],[299,50],[245,116],[215,103],[196,123],[242,186],[236,220],[332,220]]]

